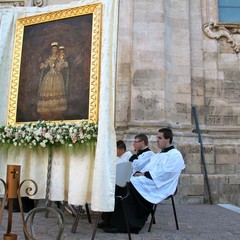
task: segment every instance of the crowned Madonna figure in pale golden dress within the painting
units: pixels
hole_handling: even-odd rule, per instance
[[[63,120],[62,112],[67,109],[67,99],[61,69],[67,67],[67,62],[59,62],[58,43],[51,43],[51,56],[40,64],[42,73],[38,89],[37,112],[42,120]],[[44,75],[47,69],[49,70]]]

